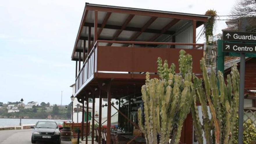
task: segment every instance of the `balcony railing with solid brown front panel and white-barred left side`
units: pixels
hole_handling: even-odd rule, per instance
[[[116,43],[116,44],[123,44],[125,46],[120,46],[120,47],[99,46],[99,43]],[[127,45],[132,45],[132,47],[127,47]],[[137,45],[140,45],[140,47],[137,47]],[[145,63],[155,64],[155,61],[156,61],[155,56],[158,57],[158,54],[159,56],[163,56],[162,58],[166,57],[163,54],[166,54],[166,53],[174,54],[175,56],[171,56],[171,58],[175,59],[175,61],[178,58],[179,49],[166,49],[164,47],[161,47],[159,49],[158,47],[148,48],[148,46],[152,46],[152,45],[158,45],[158,46],[167,45],[167,47],[169,48],[171,45],[177,45],[177,47],[180,47],[182,45],[189,45],[191,46],[191,49],[192,47],[195,49],[195,50],[188,49],[190,53],[196,53],[196,54],[200,53],[199,56],[201,57],[203,56],[203,50],[198,50],[198,48],[202,47],[203,49],[204,44],[98,40],[93,46],[93,48],[91,49],[90,53],[88,54],[85,62],[83,63],[81,70],[79,71],[79,74],[76,77],[76,92],[83,86],[84,83],[88,83],[88,81],[91,80],[92,75],[95,72],[98,72],[98,71],[118,71],[118,72],[132,72],[132,73],[147,72],[147,71],[157,72],[154,67],[153,68],[152,66],[145,67],[144,64]],[[163,50],[163,49],[166,49],[166,50]],[[146,52],[151,51],[149,53],[151,55],[148,55],[146,52],[144,53],[143,50],[145,50]],[[153,58],[152,57],[149,61],[145,62],[143,59],[141,59],[142,58],[141,55],[143,54],[146,57],[146,59],[149,59],[150,56],[151,57],[153,56],[154,59],[152,59]],[[99,57],[97,58],[97,56]],[[200,58],[196,58],[196,59],[198,61]],[[122,63],[122,61],[125,61],[125,63]],[[143,68],[140,68],[141,65]]]

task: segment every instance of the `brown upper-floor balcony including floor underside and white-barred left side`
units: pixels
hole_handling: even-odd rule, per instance
[[[124,46],[103,46],[102,43],[120,43]],[[132,47],[127,47],[126,44],[132,44]],[[136,47],[135,44],[145,46]],[[146,47],[146,45],[161,45],[162,47]],[[115,90],[125,89],[125,87],[134,84],[141,86],[145,83],[146,72],[150,72],[151,78],[158,77],[156,63],[158,57],[168,60],[169,65],[174,63],[178,73],[178,59],[181,49],[170,48],[170,45],[203,47],[203,44],[190,43],[98,40],[77,75],[75,96],[84,95],[83,90],[87,86],[98,86],[98,81],[111,80],[111,88]],[[193,73],[201,74],[199,61],[203,57],[203,50],[184,50],[193,57]],[[118,98],[119,94],[112,95],[112,97]]]

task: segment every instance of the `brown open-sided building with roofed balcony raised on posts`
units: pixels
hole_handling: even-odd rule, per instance
[[[203,57],[200,49],[203,44],[196,44],[196,28],[209,18],[189,13],[86,3],[72,52],[72,61],[76,61],[74,96],[83,106],[89,98],[93,102],[99,98],[99,124],[102,123],[102,98],[108,99],[107,144],[111,142],[111,107],[115,108],[111,99],[118,99],[120,108],[121,98],[130,99],[134,92],[139,95],[145,83],[145,72],[150,72],[151,78],[157,77],[156,61],[159,56],[169,64],[178,65],[179,51],[185,49],[193,56],[193,72],[201,74],[199,61]],[[128,108],[128,115],[115,109],[136,126],[136,122],[131,120],[131,101]],[[99,135],[100,131],[101,127]],[[193,125],[189,115],[184,123],[181,142],[191,144],[192,139]]]

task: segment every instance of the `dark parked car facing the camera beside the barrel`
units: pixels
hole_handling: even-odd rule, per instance
[[[60,130],[62,127],[59,128],[55,121],[40,120],[35,124],[35,127],[32,126],[31,128],[33,129],[31,143],[36,143],[37,141],[61,143]]]

